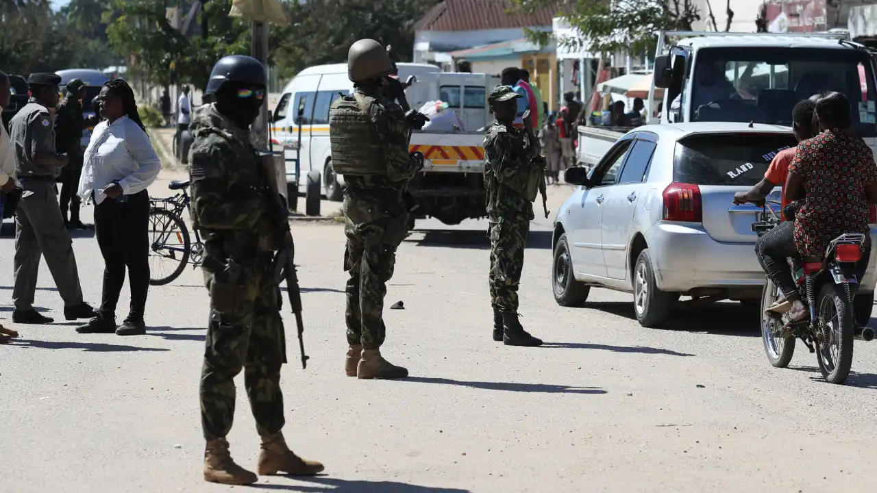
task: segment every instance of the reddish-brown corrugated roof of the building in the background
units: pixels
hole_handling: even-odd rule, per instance
[[[426,12],[415,31],[481,31],[552,25],[557,9],[545,7],[530,16],[510,14],[505,0],[444,0]]]

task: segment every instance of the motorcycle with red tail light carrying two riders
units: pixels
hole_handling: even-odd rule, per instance
[[[767,200],[762,204],[752,232],[759,237],[780,224],[780,218]],[[791,215],[788,215],[791,217]],[[761,339],[767,360],[775,368],[786,368],[795,354],[795,340],[801,339],[810,353],[816,354],[819,371],[831,383],[843,383],[852,366],[853,339],[870,341],[870,327],[856,327],[852,300],[859,288],[856,263],[861,258],[864,234],[842,234],[831,240],[822,257],[788,258],[792,277],[810,317],[790,322],[787,313],[771,311],[780,289],[766,277],[761,295]]]

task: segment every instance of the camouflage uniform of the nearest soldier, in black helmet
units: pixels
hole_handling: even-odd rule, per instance
[[[244,370],[260,436],[284,424],[280,369],[286,346],[273,250],[285,226],[249,133],[220,114],[199,108],[189,151],[192,222],[204,239],[204,284],[210,322],[201,372],[201,422],[208,441],[232,429],[235,386]]]

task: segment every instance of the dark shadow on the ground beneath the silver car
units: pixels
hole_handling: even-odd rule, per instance
[[[586,303],[582,308],[636,320],[632,302]],[[759,312],[738,303],[688,304],[677,302],[673,315],[662,330],[760,337]]]

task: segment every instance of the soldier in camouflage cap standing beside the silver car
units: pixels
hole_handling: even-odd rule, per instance
[[[517,316],[517,285],[524,269],[524,247],[533,204],[543,173],[540,157],[527,145],[525,131],[512,125],[522,95],[499,86],[488,96],[496,120],[484,136],[484,188],[490,237],[490,300],[494,340],[506,346],[541,346]]]

